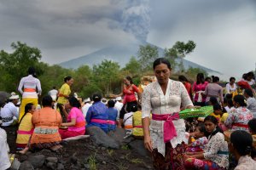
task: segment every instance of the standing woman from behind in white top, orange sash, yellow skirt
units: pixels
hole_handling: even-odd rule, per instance
[[[34,67],[29,67],[28,76],[21,78],[18,90],[20,94],[22,94],[19,116],[20,122],[21,117],[25,114],[25,105],[32,103],[37,107],[38,95],[41,95],[42,93],[41,83],[36,76],[36,70]]]

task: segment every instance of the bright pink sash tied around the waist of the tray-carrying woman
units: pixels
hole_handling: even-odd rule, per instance
[[[179,119],[177,112],[173,114],[152,114],[152,119],[154,121],[165,121],[164,122],[164,142],[167,143],[174,137],[177,137],[176,128],[174,127],[173,120]]]

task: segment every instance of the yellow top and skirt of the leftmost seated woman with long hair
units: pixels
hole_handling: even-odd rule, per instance
[[[22,131],[31,131],[33,128],[32,125],[32,114],[26,113],[26,116],[23,117],[20,122],[19,130]],[[19,134],[17,135],[16,143],[17,144],[27,144],[31,134]]]

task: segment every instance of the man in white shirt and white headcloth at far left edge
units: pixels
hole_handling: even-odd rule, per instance
[[[15,106],[19,102],[19,95],[12,95],[9,98],[9,103],[4,105],[1,109],[0,116],[2,116],[3,127],[8,127],[19,118],[19,111]]]

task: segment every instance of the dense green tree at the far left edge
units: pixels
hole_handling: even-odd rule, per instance
[[[34,66],[38,69],[38,63],[41,59],[41,52],[38,48],[32,48],[22,42],[13,42],[11,48],[14,52],[9,54],[3,50],[0,51],[0,71],[4,75],[0,77],[0,83],[6,91],[14,91],[20,78],[27,75],[27,69]],[[39,74],[43,73],[42,70],[38,71]]]

